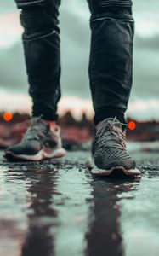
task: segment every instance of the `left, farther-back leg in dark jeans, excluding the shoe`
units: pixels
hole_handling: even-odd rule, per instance
[[[15,0],[21,9],[26,71],[32,115],[57,119],[60,99],[60,0]]]

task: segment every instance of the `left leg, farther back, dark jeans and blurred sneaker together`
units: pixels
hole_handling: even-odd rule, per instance
[[[24,27],[26,71],[33,101],[29,129],[5,151],[8,159],[43,160],[65,155],[54,121],[60,100],[60,0],[15,0]]]

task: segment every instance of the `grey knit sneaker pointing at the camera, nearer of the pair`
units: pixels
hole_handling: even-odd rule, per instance
[[[116,118],[105,119],[97,125],[92,143],[92,174],[136,176],[141,173],[126,149],[122,125]]]

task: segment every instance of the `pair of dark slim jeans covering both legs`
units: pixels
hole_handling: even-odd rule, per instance
[[[60,100],[60,0],[15,0],[25,31],[23,44],[33,116],[56,120]],[[88,0],[92,31],[89,61],[94,123],[124,121],[132,87],[131,0]]]

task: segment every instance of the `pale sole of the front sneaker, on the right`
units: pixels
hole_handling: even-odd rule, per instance
[[[114,167],[111,167],[110,170],[99,169],[97,166],[95,166],[93,160],[87,160],[85,165],[88,167],[88,169],[90,169],[91,174],[93,174],[96,177],[101,177],[101,176],[105,177],[110,175],[114,175],[114,176],[124,175],[128,177],[135,177],[141,174],[141,172],[137,168],[127,170],[123,166],[114,166]]]

